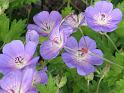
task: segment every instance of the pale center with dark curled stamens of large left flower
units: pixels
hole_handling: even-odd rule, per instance
[[[25,66],[25,60],[22,56],[18,56],[14,59],[16,67],[21,69],[22,67]]]

